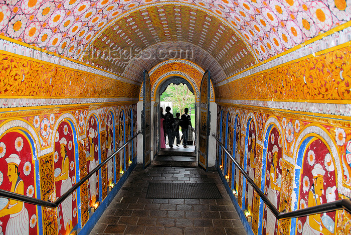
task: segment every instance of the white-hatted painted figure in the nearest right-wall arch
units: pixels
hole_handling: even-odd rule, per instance
[[[312,170],[313,185],[308,192],[308,207],[320,205],[320,197],[324,194],[324,174],[323,167],[317,163]],[[309,215],[302,228],[302,234],[333,234],[323,226],[321,221],[321,214]]]

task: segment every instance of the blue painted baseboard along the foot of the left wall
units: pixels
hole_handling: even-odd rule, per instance
[[[132,164],[128,168],[128,170],[122,175],[122,177],[119,179],[119,181],[116,183],[116,185],[112,188],[111,192],[105,197],[105,199],[101,202],[99,207],[95,210],[95,212],[91,215],[91,217],[88,219],[84,227],[79,231],[79,235],[86,235],[91,232],[91,230],[94,228],[96,222],[99,220],[101,217],[102,213],[106,210],[108,205],[111,203],[113,198],[116,196],[118,191],[121,189],[123,186],[124,182],[127,180],[128,176],[132,172],[132,170],[135,168],[137,164],[137,157],[133,159]]]

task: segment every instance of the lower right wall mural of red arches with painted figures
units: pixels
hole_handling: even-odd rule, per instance
[[[236,159],[239,163],[243,162],[247,151],[247,172],[279,211],[292,211],[351,197],[346,157],[350,153],[351,128],[347,121],[340,121],[335,127],[327,124],[328,117],[311,118],[308,115],[267,109],[252,111],[248,107],[223,103],[218,108],[236,117],[236,133],[232,137]],[[217,113],[218,120],[221,120],[221,112]],[[247,121],[242,123],[242,120]],[[255,123],[257,125],[252,125]],[[241,132],[243,128],[247,130],[246,133]],[[222,135],[225,129],[218,126],[217,131],[217,135]],[[242,143],[245,139],[247,145]],[[256,144],[256,154],[253,144]],[[257,167],[250,174],[251,156],[256,156]],[[253,202],[248,202],[250,193],[247,185],[241,183],[242,175],[237,172],[234,175],[239,206],[249,209],[253,205],[250,212],[255,233],[351,232],[351,215],[344,210],[297,219],[272,219],[274,216],[255,193]],[[245,196],[242,192],[245,192]]]

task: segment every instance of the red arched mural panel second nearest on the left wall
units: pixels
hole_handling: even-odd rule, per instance
[[[73,132],[67,122],[60,123],[55,135],[55,187],[57,197],[76,184]],[[67,234],[78,223],[77,194],[73,192],[57,208],[58,233]]]

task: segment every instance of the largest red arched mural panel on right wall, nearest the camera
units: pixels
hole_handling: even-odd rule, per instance
[[[338,200],[335,174],[330,151],[321,140],[314,138],[303,157],[299,208]],[[297,234],[333,234],[335,218],[335,211],[298,218]]]

